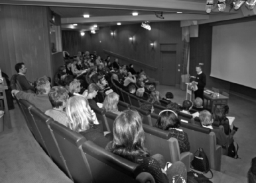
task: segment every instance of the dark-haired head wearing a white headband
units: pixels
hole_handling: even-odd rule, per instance
[[[162,110],[159,113],[156,127],[163,130],[168,130],[169,128],[179,128],[180,120],[178,120],[178,115],[172,110]]]

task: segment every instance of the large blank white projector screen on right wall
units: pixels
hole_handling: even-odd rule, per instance
[[[256,89],[256,21],[214,26],[211,77]]]

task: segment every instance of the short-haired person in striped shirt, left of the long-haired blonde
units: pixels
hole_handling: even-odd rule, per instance
[[[64,112],[64,108],[68,100],[68,91],[62,86],[52,87],[49,92],[49,100],[52,104],[52,109],[46,110],[45,114],[56,122],[67,126],[68,117]]]

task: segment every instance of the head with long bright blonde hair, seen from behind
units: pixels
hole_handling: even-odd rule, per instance
[[[84,96],[72,96],[66,104],[68,127],[73,131],[86,131],[94,125],[88,100]]]

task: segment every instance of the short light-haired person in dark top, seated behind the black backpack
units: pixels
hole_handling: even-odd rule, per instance
[[[224,131],[216,126],[212,126],[214,120],[208,110],[202,110],[199,114],[199,119],[204,128],[210,128],[211,131],[214,131],[218,145],[225,145],[227,143],[227,137]]]

